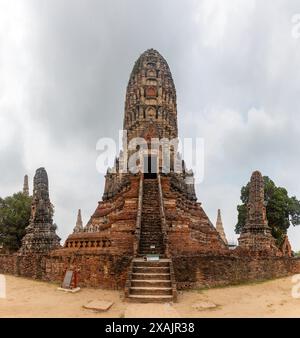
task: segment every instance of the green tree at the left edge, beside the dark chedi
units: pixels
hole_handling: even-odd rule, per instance
[[[4,249],[12,252],[20,248],[30,209],[31,197],[21,192],[0,198],[0,244]]]

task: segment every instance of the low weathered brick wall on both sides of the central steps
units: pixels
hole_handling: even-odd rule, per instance
[[[66,269],[76,267],[78,285],[123,289],[131,256],[80,254],[50,256],[0,255],[0,273],[61,283]],[[173,257],[178,289],[232,285],[300,273],[300,259],[238,255]]]

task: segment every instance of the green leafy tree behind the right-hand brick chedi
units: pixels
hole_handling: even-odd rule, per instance
[[[237,206],[238,222],[235,226],[237,234],[241,233],[246,223],[249,187],[250,182],[241,189],[242,204]],[[289,197],[287,190],[277,187],[268,176],[264,176],[264,187],[269,226],[277,245],[280,246],[290,225],[300,224],[300,201],[295,196]]]

